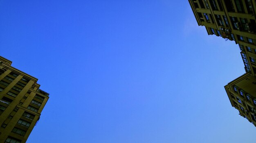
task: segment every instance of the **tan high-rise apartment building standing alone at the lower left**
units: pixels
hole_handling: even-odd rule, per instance
[[[49,94],[11,63],[0,56],[0,143],[25,143]]]

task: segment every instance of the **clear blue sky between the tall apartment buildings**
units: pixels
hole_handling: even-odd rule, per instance
[[[238,45],[187,0],[1,0],[0,55],[50,93],[27,143],[255,143]]]

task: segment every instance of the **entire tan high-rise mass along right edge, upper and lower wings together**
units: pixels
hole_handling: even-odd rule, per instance
[[[189,0],[189,4],[208,35],[239,45],[246,74],[229,82],[225,90],[231,105],[256,125],[256,1]]]

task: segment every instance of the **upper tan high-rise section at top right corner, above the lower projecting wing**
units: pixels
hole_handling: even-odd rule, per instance
[[[208,35],[235,41],[241,50],[246,72],[256,75],[256,1],[189,0],[199,26]]]

